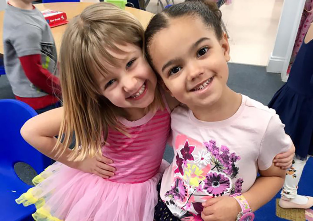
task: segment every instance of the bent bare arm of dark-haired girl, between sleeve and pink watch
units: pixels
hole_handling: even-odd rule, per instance
[[[269,202],[277,194],[284,184],[286,175],[285,170],[276,167],[274,164],[267,170],[260,170],[259,173],[261,176],[243,194],[253,211]]]

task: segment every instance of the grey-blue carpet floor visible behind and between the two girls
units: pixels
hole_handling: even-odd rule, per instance
[[[267,73],[263,66],[229,63],[228,86],[266,105],[274,93],[283,85],[279,74]],[[6,76],[0,77],[0,99],[14,98]],[[173,150],[167,147],[164,159],[172,162]],[[16,172],[26,183],[31,184],[34,172],[25,165],[16,165]]]

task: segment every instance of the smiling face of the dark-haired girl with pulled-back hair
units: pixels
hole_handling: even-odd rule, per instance
[[[172,96],[191,109],[213,105],[227,87],[228,39],[218,39],[198,18],[170,18],[153,36],[148,53]]]

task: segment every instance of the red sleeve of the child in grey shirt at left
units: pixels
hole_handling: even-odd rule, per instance
[[[40,54],[19,57],[25,75],[36,87],[48,94],[60,94],[59,78],[41,65]]]

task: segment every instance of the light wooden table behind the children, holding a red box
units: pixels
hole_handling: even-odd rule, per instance
[[[76,15],[80,14],[85,7],[92,5],[94,3],[89,2],[57,2],[57,3],[44,3],[44,4],[35,4],[39,11],[43,11],[46,9],[51,10],[58,10],[65,12],[67,15],[68,20],[75,17]],[[151,17],[153,16],[152,13],[142,11],[136,8],[126,7],[126,11],[131,12],[135,15],[138,20],[141,22],[143,27],[147,27]],[[3,54],[3,16],[4,11],[0,11],[0,53]],[[58,27],[51,28],[52,35],[54,37],[55,45],[57,51],[59,51],[61,38],[65,31],[67,25],[61,25]]]

